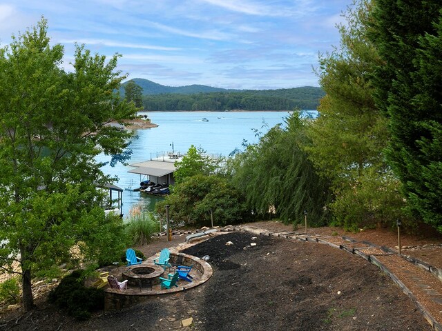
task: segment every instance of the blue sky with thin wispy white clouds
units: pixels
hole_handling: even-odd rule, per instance
[[[318,86],[318,52],[338,46],[352,0],[0,0],[0,46],[48,19],[52,43],[122,54],[128,79],[166,86]]]

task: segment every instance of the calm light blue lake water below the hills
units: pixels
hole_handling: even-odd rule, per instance
[[[304,114],[316,114],[316,111],[303,111]],[[133,139],[133,151],[129,164],[146,161],[168,151],[185,154],[194,145],[203,148],[209,154],[228,156],[238,148],[243,150],[242,142],[258,142],[256,132],[265,134],[269,128],[284,123],[288,112],[148,112],[152,123],[157,128],[135,130],[137,139]],[[208,121],[203,121],[205,118]],[[263,127],[265,125],[265,127]],[[98,161],[110,161],[110,157],[101,155]],[[128,173],[132,167],[117,164],[115,167],[104,166],[104,172],[116,175],[115,185],[120,188],[137,188],[140,175]],[[145,196],[140,192],[123,192],[123,214],[135,204],[140,203],[142,209],[153,210],[155,202],[161,197]]]

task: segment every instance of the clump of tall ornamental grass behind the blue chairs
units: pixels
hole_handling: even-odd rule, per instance
[[[132,245],[145,245],[155,232],[160,232],[160,223],[152,212],[131,213],[127,219],[126,232]]]

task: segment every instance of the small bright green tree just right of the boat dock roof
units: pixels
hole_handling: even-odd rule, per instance
[[[173,173],[176,183],[195,174],[209,176],[215,173],[222,159],[213,159],[205,154],[202,148],[191,146],[180,162],[175,162],[176,170]]]

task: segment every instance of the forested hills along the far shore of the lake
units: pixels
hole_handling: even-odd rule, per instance
[[[143,90],[146,111],[293,110],[316,109],[325,96],[322,88],[304,86],[277,90],[231,90],[205,85],[164,86],[148,79],[132,79]],[[124,96],[125,82],[120,88]]]

